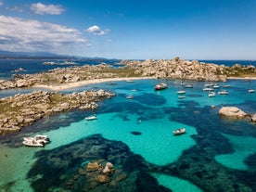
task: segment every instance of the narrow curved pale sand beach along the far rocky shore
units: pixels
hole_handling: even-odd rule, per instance
[[[84,81],[81,81],[81,82],[74,82],[74,83],[63,83],[63,84],[59,84],[59,85],[38,84],[38,85],[34,85],[33,87],[50,89],[50,90],[53,90],[53,91],[61,91],[61,90],[66,90],[66,89],[71,89],[71,88],[83,86],[83,85],[86,85],[86,84],[119,82],[119,81],[133,81],[133,80],[144,80],[144,79],[154,79],[154,78],[153,77],[106,78],[106,79],[84,80]]]

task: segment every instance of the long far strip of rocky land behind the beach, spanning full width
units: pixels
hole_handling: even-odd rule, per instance
[[[170,60],[147,59],[122,60],[123,67],[113,69],[110,65],[84,65],[82,67],[58,68],[36,74],[16,74],[13,80],[0,80],[0,90],[32,87],[34,85],[61,85],[98,79],[147,77],[158,79],[182,79],[193,81],[221,81],[232,77],[256,77],[252,65],[232,67],[213,63],[173,58]]]

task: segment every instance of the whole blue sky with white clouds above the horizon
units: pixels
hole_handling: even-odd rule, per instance
[[[0,50],[255,59],[256,0],[0,0]]]

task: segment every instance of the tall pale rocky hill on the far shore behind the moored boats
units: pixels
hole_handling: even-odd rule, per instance
[[[189,61],[180,58],[171,60],[122,61],[129,68],[136,69],[142,76],[154,76],[167,79],[187,79],[195,81],[225,81],[225,67],[197,60]]]

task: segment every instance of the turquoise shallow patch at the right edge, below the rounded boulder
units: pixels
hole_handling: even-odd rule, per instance
[[[231,154],[215,156],[215,160],[232,169],[248,170],[244,160],[256,152],[256,138],[229,134],[224,134],[224,136],[229,139],[235,151]]]

